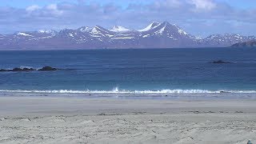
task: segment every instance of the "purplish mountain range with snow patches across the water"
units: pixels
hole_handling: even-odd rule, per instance
[[[200,38],[175,24],[152,22],[142,30],[130,30],[123,26],[114,26],[111,29],[102,26],[82,26],[75,30],[0,34],[0,50],[224,47],[255,39],[255,36],[240,34],[212,34]]]

